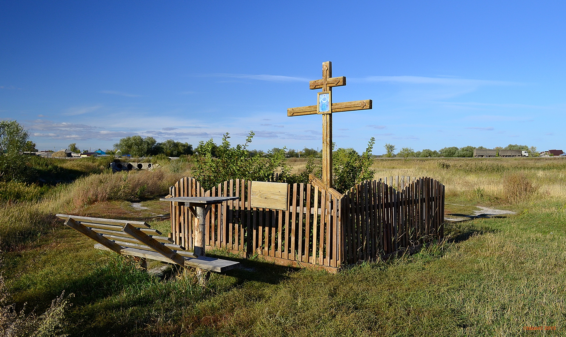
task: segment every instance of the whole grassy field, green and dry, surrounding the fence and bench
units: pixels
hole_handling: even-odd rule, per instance
[[[300,171],[305,161],[289,164]],[[337,275],[216,251],[243,268],[215,274],[201,288],[190,273],[160,281],[130,258],[98,252],[52,215],[144,219],[168,232],[160,216],[168,205],[154,197],[188,167],[164,163],[145,176],[98,172],[40,201],[0,208],[7,290],[18,308],[27,303],[38,314],[63,291],[74,294],[64,319],[71,336],[566,335],[564,159],[376,159],[372,168],[375,178],[440,180],[447,214],[472,214],[476,206],[517,214],[447,223],[441,243]],[[151,192],[136,194],[144,185]],[[126,192],[108,197],[115,191]],[[148,209],[131,206],[140,200]],[[556,330],[525,330],[547,326]]]

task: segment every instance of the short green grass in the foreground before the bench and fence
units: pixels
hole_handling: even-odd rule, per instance
[[[75,293],[72,336],[528,336],[566,329],[562,203],[447,227],[448,242],[337,275],[258,260],[161,282],[130,259],[98,253],[70,229],[20,252],[4,270],[17,303],[46,308]],[[233,257],[232,257],[233,258]],[[541,332],[537,332],[541,333]]]

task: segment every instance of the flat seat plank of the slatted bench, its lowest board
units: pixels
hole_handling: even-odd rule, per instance
[[[109,250],[110,252],[112,252],[112,250],[104,247],[99,243],[95,244],[95,248],[101,250]],[[141,250],[136,248],[123,248],[122,254],[151,258],[152,260],[157,260],[157,261],[170,262],[170,260],[165,256],[162,256],[159,253],[149,252],[148,250]],[[235,269],[239,267],[239,265],[240,262],[222,260],[220,258],[212,258],[207,256],[199,256],[198,258],[189,258],[189,257],[185,258],[185,267],[195,267],[210,271],[217,271],[218,273],[224,273],[224,271]]]

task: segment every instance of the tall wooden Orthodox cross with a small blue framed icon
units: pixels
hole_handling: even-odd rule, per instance
[[[371,109],[371,100],[332,103],[332,87],[346,85],[346,77],[332,77],[332,62],[323,62],[322,79],[310,81],[310,89],[322,89],[317,105],[291,107],[288,116],[322,115],[322,182],[332,188],[332,113]]]

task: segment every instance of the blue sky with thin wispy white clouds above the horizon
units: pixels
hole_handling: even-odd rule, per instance
[[[566,148],[566,2],[0,1],[0,119],[40,149],[121,137],[317,148],[308,80],[346,76],[339,147]]]

